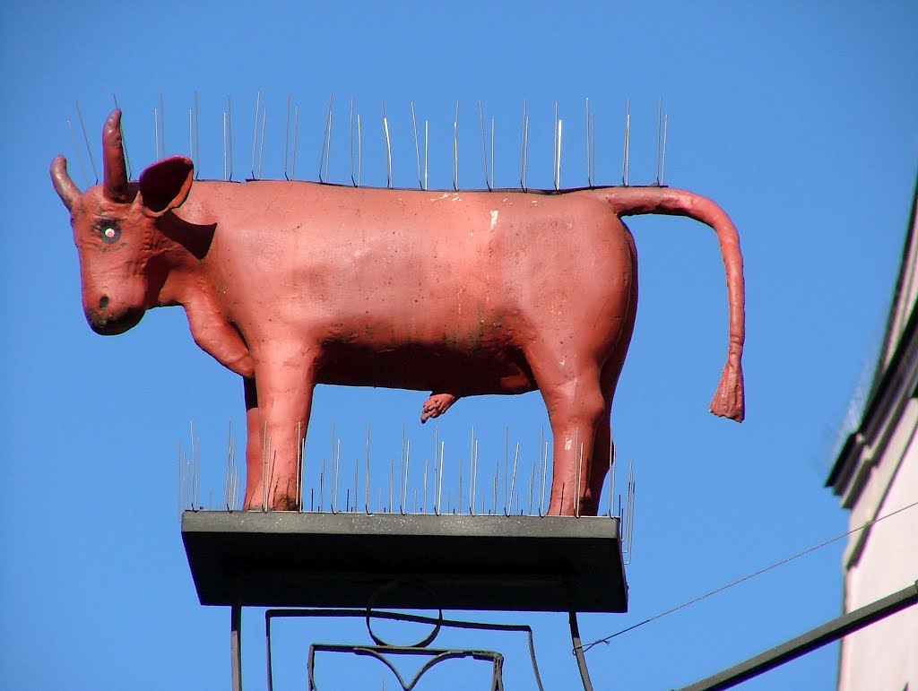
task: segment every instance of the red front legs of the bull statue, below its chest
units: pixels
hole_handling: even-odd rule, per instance
[[[302,500],[300,452],[316,385],[315,351],[260,358],[252,396],[251,380],[246,381],[245,508],[296,510]]]

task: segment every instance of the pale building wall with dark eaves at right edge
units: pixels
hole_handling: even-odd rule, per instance
[[[857,530],[845,550],[845,612],[918,582],[918,184],[886,336],[863,415],[826,482]],[[841,691],[918,691],[918,605],[842,641]]]

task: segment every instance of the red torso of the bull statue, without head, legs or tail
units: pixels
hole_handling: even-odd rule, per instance
[[[263,213],[230,216],[229,200]],[[471,396],[537,388],[540,341],[563,361],[599,324],[590,356],[605,359],[621,336],[630,235],[599,200],[572,201],[204,182],[176,216],[216,224],[202,273],[253,353],[293,340],[320,352],[322,384]]]

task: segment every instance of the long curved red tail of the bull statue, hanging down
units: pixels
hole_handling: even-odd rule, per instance
[[[727,299],[730,306],[730,345],[711,412],[742,422],[745,417],[743,384],[743,344],[745,340],[745,285],[743,254],[733,221],[711,199],[669,187],[605,187],[590,190],[608,202],[618,217],[642,214],[688,216],[714,228],[721,244],[727,273]]]

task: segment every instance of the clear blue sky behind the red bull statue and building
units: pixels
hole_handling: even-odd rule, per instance
[[[243,441],[241,385],[196,349],[180,309],[154,310],[118,338],[86,326],[67,213],[47,173],[64,153],[77,184],[91,182],[67,128],[76,124],[74,99],[98,164],[99,132],[118,95],[136,176],[155,159],[160,94],[166,149],[186,153],[197,92],[200,172],[213,178],[222,176],[230,94],[238,180],[251,162],[259,91],[268,108],[263,175],[283,174],[290,93],[300,108],[297,177],[315,179],[334,94],[330,180],[345,182],[353,95],[365,128],[366,184],[386,182],[385,100],[400,186],[416,178],[413,101],[430,122],[431,187],[452,181],[457,100],[460,185],[484,184],[479,100],[495,118],[496,183],[518,184],[528,99],[529,184],[547,187],[555,102],[565,120],[562,184],[586,184],[586,97],[596,113],[597,180],[617,184],[630,97],[637,184],[654,178],[664,98],[666,183],[711,196],[740,231],[747,418],[735,425],[707,412],[726,345],[713,234],[688,219],[631,219],[642,295],[612,418],[619,458],[634,459],[638,483],[631,612],[584,616],[582,632],[592,640],[845,530],[846,513],[823,482],[849,401],[873,367],[901,255],[918,162],[916,29],[918,10],[891,1],[6,4],[0,685],[229,684],[229,612],[197,604],[185,563],[176,445],[187,448],[194,420],[201,500],[211,488],[218,496],[230,421]],[[397,456],[403,425],[419,448],[430,445],[432,429],[417,422],[423,398],[320,390],[308,462],[326,452],[332,422],[345,456],[362,453],[367,425],[380,459]],[[462,401],[439,426],[454,457],[473,425],[491,457],[502,455],[505,425],[524,450],[547,428],[535,394]],[[387,469],[382,461],[375,474]],[[833,618],[842,548],[835,543],[594,649],[588,662],[597,686],[688,684]],[[565,617],[487,618],[532,623],[546,686],[572,687]],[[260,612],[247,612],[244,627],[245,680],[257,688]],[[297,677],[304,641],[364,641],[359,629],[337,625],[291,626],[285,636],[290,685],[304,682]],[[813,653],[747,687],[833,688],[836,655],[834,646]],[[527,684],[525,663],[508,663],[519,687]],[[455,677],[445,678],[441,687],[450,687]]]

